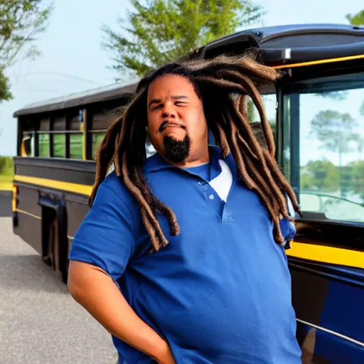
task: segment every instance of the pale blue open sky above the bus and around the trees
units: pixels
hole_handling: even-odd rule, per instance
[[[346,14],[363,10],[363,0],[256,0],[267,11],[264,23],[348,23]],[[42,100],[110,85],[117,73],[101,49],[103,24],[117,29],[117,16],[126,18],[127,0],[54,0],[54,11],[36,45],[42,55],[23,60],[6,75],[14,100],[0,104],[0,156],[16,154],[17,109]],[[364,124],[363,124],[364,125]]]

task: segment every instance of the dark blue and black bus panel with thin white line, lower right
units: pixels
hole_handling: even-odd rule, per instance
[[[352,272],[358,277],[364,274]],[[291,277],[302,362],[364,363],[364,287],[360,282],[295,268]]]

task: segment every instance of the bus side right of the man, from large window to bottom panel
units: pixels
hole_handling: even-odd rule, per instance
[[[351,72],[282,87],[280,157],[304,213],[287,252],[304,363],[364,363],[364,72]]]

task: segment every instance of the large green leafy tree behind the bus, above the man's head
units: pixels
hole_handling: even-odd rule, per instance
[[[102,48],[112,68],[144,75],[152,68],[186,55],[262,18],[260,6],[250,0],[131,0],[135,11],[118,18],[119,31],[102,26]],[[125,75],[124,75],[125,77]],[[121,78],[124,78],[123,76]]]

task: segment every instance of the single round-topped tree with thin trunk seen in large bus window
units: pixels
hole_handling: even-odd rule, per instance
[[[342,181],[342,156],[353,151],[362,151],[364,140],[353,132],[358,126],[348,113],[341,114],[333,110],[321,111],[311,120],[311,134],[328,151],[338,153],[339,181]]]

